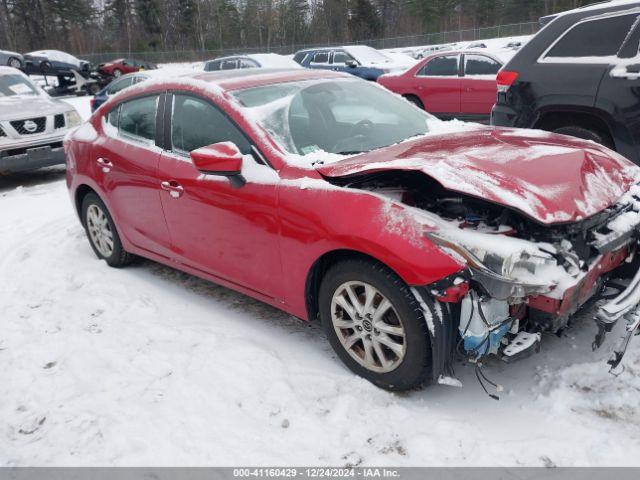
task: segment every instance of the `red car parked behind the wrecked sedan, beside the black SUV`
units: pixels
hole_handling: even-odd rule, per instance
[[[513,52],[443,52],[378,83],[442,119],[488,123],[496,103],[496,75]]]

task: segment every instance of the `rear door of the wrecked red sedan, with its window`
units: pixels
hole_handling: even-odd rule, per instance
[[[95,178],[107,194],[121,233],[136,247],[170,257],[169,232],[160,204],[156,144],[161,95],[117,105],[103,123],[93,150]]]

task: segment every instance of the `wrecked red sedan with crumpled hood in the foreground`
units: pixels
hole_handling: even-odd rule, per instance
[[[327,71],[142,83],[65,148],[98,258],[146,257],[320,319],[350,369],[393,390],[454,383],[456,352],[537,351],[633,258],[640,225],[640,169],[603,146],[452,132]],[[603,332],[639,283],[601,308]]]

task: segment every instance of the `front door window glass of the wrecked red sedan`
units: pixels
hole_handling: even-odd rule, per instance
[[[243,154],[251,153],[249,141],[218,108],[190,95],[175,95],[171,119],[173,149],[191,152],[219,142],[233,142]]]

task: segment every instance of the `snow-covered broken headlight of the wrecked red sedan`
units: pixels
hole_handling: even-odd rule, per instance
[[[462,257],[494,298],[547,293],[555,286],[543,274],[557,267],[553,255],[533,246],[514,248],[520,240],[504,238],[501,243],[500,237],[487,234],[456,235],[455,239],[440,233],[427,236],[448,253]]]

